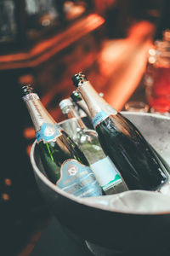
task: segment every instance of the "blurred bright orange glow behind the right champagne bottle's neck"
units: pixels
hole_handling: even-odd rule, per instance
[[[129,29],[127,38],[105,42],[99,55],[99,75],[105,84],[97,89],[102,90],[105,100],[119,111],[144,75],[153,31],[149,21],[140,21]]]

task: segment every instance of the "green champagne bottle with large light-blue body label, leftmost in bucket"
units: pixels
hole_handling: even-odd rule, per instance
[[[60,189],[79,197],[102,195],[102,189],[82,150],[54,121],[30,85],[23,86],[22,93],[49,180]]]

